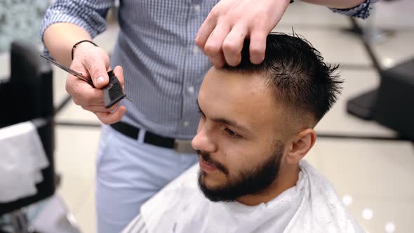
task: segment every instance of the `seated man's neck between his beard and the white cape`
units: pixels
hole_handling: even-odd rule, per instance
[[[295,164],[291,167],[281,168],[278,177],[269,187],[258,194],[246,195],[239,197],[237,201],[246,206],[257,206],[261,203],[267,203],[279,196],[282,192],[296,185],[299,179],[299,166]]]

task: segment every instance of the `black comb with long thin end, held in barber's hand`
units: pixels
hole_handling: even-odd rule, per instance
[[[76,72],[73,69],[70,69],[69,67],[65,67],[65,65],[62,65],[59,62],[55,62],[54,60],[51,60],[50,58],[46,58],[44,55],[40,55],[40,56],[48,60],[49,62],[51,62],[53,65],[56,65],[60,69],[65,70],[69,74],[72,74],[78,77],[79,79],[86,81],[91,86],[95,87],[93,85],[92,80],[88,79],[86,76],[84,76],[84,74]],[[107,86],[104,86],[102,88],[105,107],[106,108],[112,107],[114,106],[114,104],[116,104],[116,102],[118,102],[119,100],[122,100],[123,98],[126,98],[127,100],[132,101],[130,98],[126,97],[125,93],[123,93],[121,83],[119,82],[118,78],[115,76],[114,72],[112,72],[112,70],[108,72],[108,76],[109,76],[109,84],[107,84]]]

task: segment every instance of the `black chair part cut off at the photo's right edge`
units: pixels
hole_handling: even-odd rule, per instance
[[[347,112],[414,141],[414,58],[380,73],[380,87],[349,100]]]

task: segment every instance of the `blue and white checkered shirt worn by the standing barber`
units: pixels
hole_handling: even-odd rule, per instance
[[[367,0],[347,10],[331,9],[366,18]],[[111,67],[124,70],[125,91],[134,101],[124,101],[122,121],[159,135],[190,139],[196,133],[199,113],[196,96],[211,67],[194,43],[194,36],[217,0],[120,0],[120,32]],[[58,0],[46,11],[41,27],[72,22],[92,37],[104,32],[105,17],[114,0]],[[47,51],[46,51],[47,53]]]

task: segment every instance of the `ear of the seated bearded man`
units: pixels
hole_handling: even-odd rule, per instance
[[[300,159],[305,157],[307,152],[314,146],[316,142],[316,133],[312,128],[307,128],[298,133],[291,142],[291,147],[286,154],[286,162],[288,164],[298,164]]]

